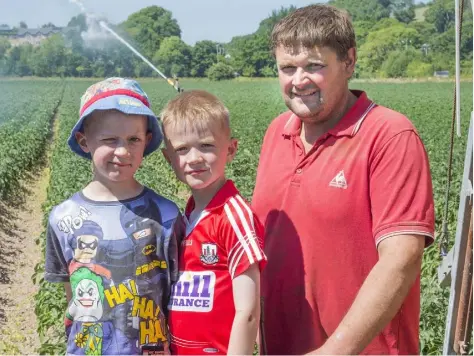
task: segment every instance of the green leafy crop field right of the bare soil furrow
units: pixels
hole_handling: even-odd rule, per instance
[[[26,84],[26,83],[25,83]],[[53,146],[51,181],[47,202],[44,205],[45,222],[51,207],[70,197],[90,179],[90,163],[75,156],[66,140],[77,119],[79,98],[91,83],[71,81],[58,110],[59,130]],[[258,157],[263,135],[272,119],[286,108],[276,81],[241,81],[210,83],[204,80],[183,80],[185,90],[206,89],[217,94],[231,113],[233,135],[239,140],[236,159],[228,167],[229,178],[234,179],[243,196],[251,199]],[[167,100],[175,95],[173,89],[158,80],[143,82],[158,113]],[[378,104],[389,106],[406,114],[415,124],[425,143],[433,176],[436,202],[436,231],[441,230],[446,186],[452,110],[452,85],[449,83],[370,84],[358,85]],[[463,137],[455,140],[453,182],[449,204],[448,222],[451,241],[454,238],[459,199],[462,165],[466,148],[468,120],[471,111],[472,84],[462,85]],[[153,153],[144,160],[137,178],[158,193],[175,200],[183,208],[189,192],[174,178],[161,153]],[[438,239],[437,235],[437,239]],[[41,236],[44,247],[44,235]],[[422,267],[422,310],[420,342],[423,354],[439,354],[443,343],[444,325],[449,290],[441,289],[436,278],[440,263],[437,244],[424,256]],[[38,330],[41,335],[41,353],[63,353],[64,336],[62,316],[65,310],[64,292],[61,287],[42,280],[42,263],[37,266],[36,278],[40,291],[36,296]]]

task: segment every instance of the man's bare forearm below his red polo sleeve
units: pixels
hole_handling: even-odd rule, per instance
[[[326,343],[312,354],[362,352],[393,319],[421,269],[425,237],[396,235],[379,243],[379,261]]]

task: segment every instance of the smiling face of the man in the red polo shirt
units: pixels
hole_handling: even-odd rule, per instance
[[[303,120],[316,123],[331,119],[347,95],[355,64],[355,50],[340,61],[329,47],[278,47],[275,51],[280,88],[286,106]]]

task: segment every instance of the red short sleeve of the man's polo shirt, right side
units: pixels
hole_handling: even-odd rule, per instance
[[[434,199],[428,156],[413,130],[389,138],[370,162],[375,243],[394,235],[434,240]]]

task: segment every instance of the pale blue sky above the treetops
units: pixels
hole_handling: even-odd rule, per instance
[[[229,42],[234,36],[247,35],[258,28],[260,21],[281,6],[302,7],[311,0],[82,0],[89,12],[104,16],[117,24],[151,5],[172,12],[181,28],[181,38],[189,45],[196,41]],[[420,2],[417,0],[415,2]],[[80,13],[69,0],[0,0],[0,24],[18,26],[20,21],[35,28],[52,22],[66,26]]]

